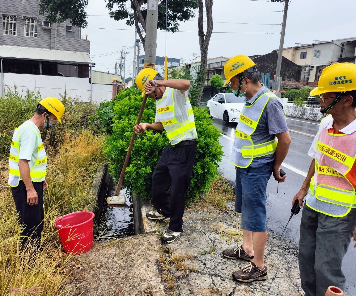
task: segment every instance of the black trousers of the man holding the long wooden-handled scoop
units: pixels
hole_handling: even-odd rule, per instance
[[[196,156],[197,144],[176,147],[169,144],[153,171],[151,203],[163,216],[171,217],[169,230],[183,231],[185,193],[192,179]],[[171,202],[169,188],[172,193]]]

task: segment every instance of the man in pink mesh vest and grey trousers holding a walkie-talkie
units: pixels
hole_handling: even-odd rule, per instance
[[[326,67],[318,87],[320,122],[308,155],[313,158],[292,204],[303,207],[299,270],[305,296],[324,296],[329,286],[344,289],[342,258],[356,241],[356,65]],[[356,244],[355,246],[356,247]]]

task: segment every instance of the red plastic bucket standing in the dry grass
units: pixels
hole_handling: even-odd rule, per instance
[[[79,211],[58,217],[54,221],[64,251],[77,255],[93,247],[93,219],[93,212]]]

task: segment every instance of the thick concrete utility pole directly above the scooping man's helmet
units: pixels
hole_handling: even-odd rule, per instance
[[[145,68],[156,68],[158,0],[148,0],[146,18]]]

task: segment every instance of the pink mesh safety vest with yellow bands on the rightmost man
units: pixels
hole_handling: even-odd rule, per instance
[[[322,128],[316,142],[315,173],[305,200],[310,208],[333,217],[346,216],[356,208],[355,142],[356,132],[329,134]]]

